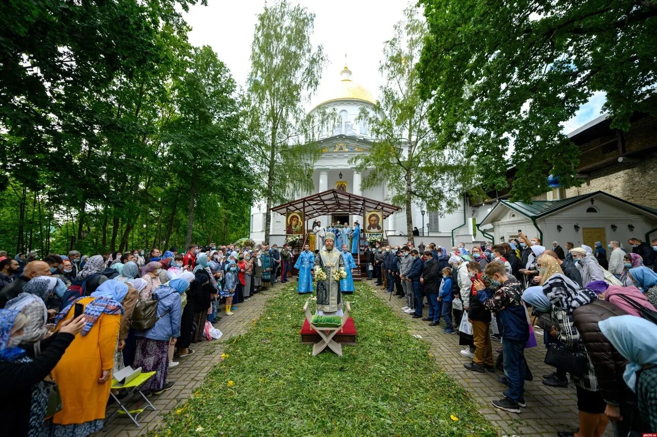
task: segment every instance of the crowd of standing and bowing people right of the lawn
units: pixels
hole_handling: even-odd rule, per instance
[[[520,233],[471,249],[376,242],[366,255],[371,279],[404,300],[402,311],[430,326],[442,318],[444,334],[459,334],[466,371],[507,386],[495,407],[526,407],[524,381],[533,375],[524,350],[537,346],[538,326],[545,363],[555,367],[543,384],[565,388],[570,374],[576,387],[579,429],[558,436],[601,436],[612,421],[620,437],[657,431],[657,239],[628,243],[631,250],[608,242],[607,256],[601,242],[564,250]],[[491,338],[501,340],[497,359]]]

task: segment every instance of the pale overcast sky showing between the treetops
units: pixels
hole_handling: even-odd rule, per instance
[[[340,70],[347,64],[351,79],[378,96],[382,85],[378,72],[384,42],[392,37],[392,26],[403,18],[404,0],[356,0],[326,2],[298,0],[315,13],[315,45],[323,45],[327,66],[310,108],[330,98],[340,80]],[[263,10],[263,0],[209,0],[207,7],[191,7],[185,19],[192,26],[189,40],[193,45],[210,45],[219,59],[231,69],[237,83],[244,87],[250,70],[249,55],[256,15]],[[273,4],[269,1],[269,4]],[[600,115],[603,95],[594,96],[574,118],[564,124],[568,133]]]

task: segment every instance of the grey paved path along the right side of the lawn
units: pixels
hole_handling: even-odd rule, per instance
[[[365,281],[370,283],[369,281]],[[499,410],[491,401],[501,398],[506,386],[497,382],[497,375],[503,375],[500,371],[495,373],[477,373],[468,371],[463,367],[464,363],[472,361],[461,355],[460,351],[465,346],[459,346],[459,336],[443,334],[444,328],[441,321],[440,326],[428,326],[428,322],[422,319],[413,319],[407,313],[401,311],[405,306],[405,299],[399,299],[386,293],[382,287],[376,287],[376,296],[388,303],[390,308],[399,317],[403,318],[411,334],[418,334],[430,344],[430,352],[436,361],[444,369],[445,373],[460,382],[472,398],[481,405],[480,413],[489,421],[495,423],[501,429],[503,435],[507,436],[556,436],[557,431],[573,432],[578,428],[578,409],[575,387],[570,384],[568,388],[553,388],[544,385],[542,375],[551,373],[554,368],[543,363],[545,348],[543,347],[543,331],[535,328],[539,346],[526,350],[525,356],[532,370],[533,380],[525,382],[525,400],[527,407],[522,408],[520,414],[507,413]],[[428,308],[424,306],[424,315]],[[501,346],[500,342],[493,340],[493,360],[497,358],[495,348]],[[611,425],[608,425],[604,436],[612,436]]]

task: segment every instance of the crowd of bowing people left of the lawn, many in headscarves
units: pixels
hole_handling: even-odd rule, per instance
[[[169,369],[238,304],[288,281],[284,244],[82,255],[0,251],[0,415],[11,436],[87,436],[102,429],[112,374],[154,371],[147,396],[174,386]],[[223,306],[223,311],[220,311]],[[53,382],[54,381],[54,382]],[[61,405],[49,402],[56,384]],[[125,392],[113,392],[117,399]]]

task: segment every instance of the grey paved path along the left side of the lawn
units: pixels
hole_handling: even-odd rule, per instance
[[[238,304],[238,310],[235,315],[225,316],[215,325],[223,336],[219,340],[212,342],[200,342],[192,344],[195,351],[194,355],[187,358],[177,359],[180,364],[169,372],[168,380],[175,381],[175,386],[159,396],[148,398],[155,405],[157,411],[152,411],[150,407],[141,413],[137,419],[140,427],[128,418],[118,415],[112,419],[101,432],[97,432],[95,437],[114,437],[114,436],[140,436],[156,428],[162,421],[162,416],[175,408],[179,403],[185,402],[190,398],[194,390],[202,384],[206,374],[219,361],[223,353],[224,345],[231,340],[233,336],[244,334],[248,331],[252,321],[260,317],[265,309],[267,302],[276,296],[283,289],[283,285],[277,284],[269,290],[260,292],[248,302]],[[133,398],[137,400],[137,398]],[[130,402],[128,409],[142,408],[146,402]],[[115,407],[108,407],[108,415],[114,411]]]

